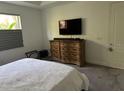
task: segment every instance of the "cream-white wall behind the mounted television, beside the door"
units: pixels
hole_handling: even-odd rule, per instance
[[[74,37],[86,39],[86,61],[110,67],[116,67],[108,58],[110,13],[112,2],[73,2],[42,10],[42,24],[47,32],[44,47],[55,37]],[[82,18],[85,34],[78,36],[59,35],[58,20]],[[109,62],[108,62],[109,60]]]

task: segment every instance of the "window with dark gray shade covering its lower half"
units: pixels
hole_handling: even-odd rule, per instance
[[[0,51],[23,47],[20,15],[0,14]]]

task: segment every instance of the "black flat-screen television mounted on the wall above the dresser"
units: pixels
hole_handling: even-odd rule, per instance
[[[82,34],[82,20],[70,19],[59,21],[59,34],[60,35],[80,35]]]

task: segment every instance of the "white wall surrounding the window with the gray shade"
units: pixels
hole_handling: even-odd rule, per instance
[[[0,65],[25,57],[24,53],[43,48],[41,11],[0,2],[0,13],[20,14],[24,47],[0,51]]]

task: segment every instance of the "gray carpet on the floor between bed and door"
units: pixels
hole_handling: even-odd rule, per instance
[[[90,81],[90,91],[124,90],[124,70],[97,65],[87,65],[85,67],[71,66],[87,75]]]

